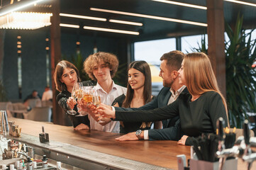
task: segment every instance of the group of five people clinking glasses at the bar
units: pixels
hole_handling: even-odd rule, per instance
[[[69,115],[74,130],[126,133],[116,140],[177,140],[180,145],[192,145],[193,137],[216,132],[218,118],[222,117],[228,126],[226,101],[207,55],[184,55],[174,50],[160,60],[159,76],[164,87],[157,96],[152,96],[147,62],[130,63],[125,88],[112,80],[118,69],[116,55],[89,55],[84,71],[96,81],[94,89],[101,97],[97,108],[71,97],[74,83],[80,81],[79,72],[74,64],[63,60],[55,68],[55,84],[60,91],[57,102],[65,111],[74,109],[77,115],[84,115]],[[90,81],[83,84],[91,86]]]

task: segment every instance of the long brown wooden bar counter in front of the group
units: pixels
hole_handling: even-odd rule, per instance
[[[96,130],[74,131],[72,127],[18,118],[9,120],[22,128],[21,142],[26,140],[28,145],[40,145],[45,152],[62,152],[68,157],[81,161],[87,159],[111,169],[178,169],[178,154],[185,154],[187,159],[190,158],[190,147],[177,145],[175,141],[117,142],[115,138],[119,137],[119,134]],[[39,142],[38,134],[42,132],[42,125],[45,132],[49,133],[49,144]],[[28,141],[29,137],[33,139]],[[132,166],[133,164],[135,166]],[[255,164],[252,164],[252,169],[256,169]],[[246,169],[246,165],[238,159],[238,169]]]

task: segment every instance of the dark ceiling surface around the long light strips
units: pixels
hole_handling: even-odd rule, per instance
[[[206,0],[175,1],[199,6],[206,6]],[[255,3],[255,1],[253,0],[243,1]],[[50,4],[50,2],[51,1],[48,1],[47,4]],[[256,7],[235,4],[229,1],[224,1],[223,4],[225,20],[228,23],[234,23],[235,18],[240,12],[244,16],[244,26],[246,28],[256,28]],[[140,35],[121,35],[119,33],[103,33],[99,31],[96,32],[83,29],[79,30],[79,32],[82,34],[96,33],[97,35],[105,36],[128,36],[135,41],[206,33],[206,27],[204,26],[194,26],[187,23],[175,23],[170,21],[155,20],[151,18],[141,18],[115,13],[91,11],[90,8],[103,8],[114,11],[140,13],[150,16],[161,16],[165,18],[174,18],[199,23],[207,23],[206,10],[204,9],[165,4],[162,2],[151,0],[60,0],[60,13],[94,16],[107,19],[118,19],[123,21],[133,21],[143,23],[143,26],[129,26],[120,23],[111,23],[108,21],[92,21],[87,19],[69,18],[64,16],[61,17],[60,22],[79,26],[95,26],[118,30],[138,31]],[[77,33],[78,31],[78,29],[76,28],[62,28],[62,30],[74,33]]]

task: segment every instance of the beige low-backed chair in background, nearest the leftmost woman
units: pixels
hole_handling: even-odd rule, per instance
[[[50,107],[35,107],[32,108],[28,113],[23,113],[24,119],[50,122],[52,110]]]

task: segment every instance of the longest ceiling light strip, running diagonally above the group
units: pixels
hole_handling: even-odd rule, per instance
[[[165,17],[161,17],[161,16],[150,16],[150,15],[145,15],[145,14],[140,14],[140,13],[128,13],[128,12],[113,11],[113,10],[101,9],[101,8],[90,8],[90,10],[91,11],[101,11],[101,12],[106,12],[106,13],[117,13],[117,14],[126,15],[126,16],[138,16],[138,17],[142,17],[142,18],[150,18],[150,19],[156,19],[156,20],[162,20],[162,21],[171,21],[171,22],[176,22],[176,23],[187,23],[187,24],[191,24],[191,25],[207,27],[207,23],[198,23],[198,22],[185,21],[185,20],[179,20],[179,19],[174,19],[174,18],[165,18]]]

